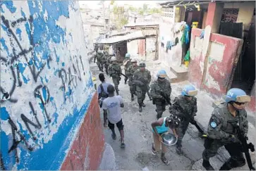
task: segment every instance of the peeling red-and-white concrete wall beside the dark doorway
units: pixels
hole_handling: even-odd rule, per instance
[[[189,80],[197,87],[221,97],[231,86],[233,72],[243,45],[242,39],[211,34],[209,49],[202,49],[202,30],[192,30],[190,43]],[[207,55],[202,55],[207,51]]]

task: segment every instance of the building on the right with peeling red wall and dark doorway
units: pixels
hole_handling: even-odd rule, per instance
[[[195,25],[190,34],[189,80],[217,98],[232,87],[252,95],[255,111],[255,2],[171,1],[173,21]],[[160,32],[161,36],[161,32]],[[183,53],[184,55],[184,53]]]

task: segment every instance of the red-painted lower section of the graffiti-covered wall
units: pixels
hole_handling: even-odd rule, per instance
[[[97,99],[95,93],[61,170],[97,170],[99,167],[105,141]]]

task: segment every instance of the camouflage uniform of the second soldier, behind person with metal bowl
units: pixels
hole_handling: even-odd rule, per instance
[[[169,112],[181,118],[181,122],[176,129],[176,133],[178,134],[176,148],[181,150],[181,142],[188,129],[188,125],[194,120],[197,113],[197,98],[193,96],[189,101],[185,99],[185,96],[180,95],[174,99],[173,104],[169,108]]]

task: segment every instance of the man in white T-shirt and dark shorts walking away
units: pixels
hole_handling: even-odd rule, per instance
[[[121,96],[115,96],[115,88],[113,85],[107,87],[109,97],[104,99],[102,108],[104,111],[104,127],[106,127],[106,120],[109,120],[109,129],[112,131],[112,139],[116,139],[115,124],[121,135],[121,148],[125,148],[123,140],[123,121],[121,116],[121,108],[124,107]]]

